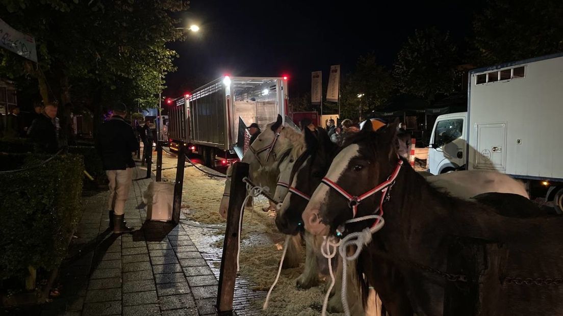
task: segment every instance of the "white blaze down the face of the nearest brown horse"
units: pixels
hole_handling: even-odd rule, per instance
[[[359,151],[360,146],[357,144],[352,144],[344,148],[338,153],[338,155],[336,155],[336,157],[334,157],[325,177],[333,180],[334,182],[338,182],[346,170],[348,162],[350,162],[350,160],[354,157],[360,155]],[[309,204],[305,207],[305,211],[303,211],[302,219],[303,223],[305,223],[305,229],[313,234],[323,235],[327,234],[329,231],[329,227],[320,222],[320,216],[327,207],[330,207],[329,205],[326,205],[330,191],[331,189],[326,184],[319,184],[319,186],[315,189],[315,192],[313,192]],[[311,221],[311,218],[314,218],[314,216],[316,216],[319,220]]]

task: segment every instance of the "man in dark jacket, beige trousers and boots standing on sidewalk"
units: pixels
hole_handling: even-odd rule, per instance
[[[126,114],[127,106],[117,103],[111,119],[102,124],[96,138],[96,149],[109,179],[109,226],[115,234],[133,230],[126,226],[123,218],[135,168],[131,153],[138,150],[138,142],[133,128],[123,119]]]

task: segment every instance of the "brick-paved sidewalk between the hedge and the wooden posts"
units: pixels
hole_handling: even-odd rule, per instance
[[[143,177],[137,167],[133,177]],[[107,192],[83,198],[85,212],[60,270],[61,296],[41,315],[213,315],[217,278],[185,225],[146,222],[142,193],[151,179],[134,180],[125,217],[131,234],[108,227]]]

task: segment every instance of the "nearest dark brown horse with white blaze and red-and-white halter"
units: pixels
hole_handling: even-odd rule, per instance
[[[365,274],[363,286],[373,286],[392,315],[443,314],[444,288],[450,281],[419,267],[445,271],[452,236],[501,242],[510,250],[498,284],[499,312],[563,314],[560,287],[510,281],[563,276],[563,217],[509,217],[503,210],[441,192],[397,156],[395,133],[396,124],[378,132],[365,124],[347,142],[303,211],[305,229],[323,236],[363,232],[368,244],[358,258],[358,274]],[[372,214],[385,222],[365,217]],[[358,222],[348,222],[352,218]],[[401,259],[415,264],[399,264]]]

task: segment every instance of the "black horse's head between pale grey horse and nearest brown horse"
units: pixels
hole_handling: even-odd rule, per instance
[[[276,216],[276,225],[285,234],[296,234],[303,228],[301,214],[308,197],[327,173],[338,148],[322,128],[315,132],[305,129],[304,133],[306,150],[296,159],[292,170],[285,170],[283,175],[288,179],[289,192],[286,191],[287,195]]]

